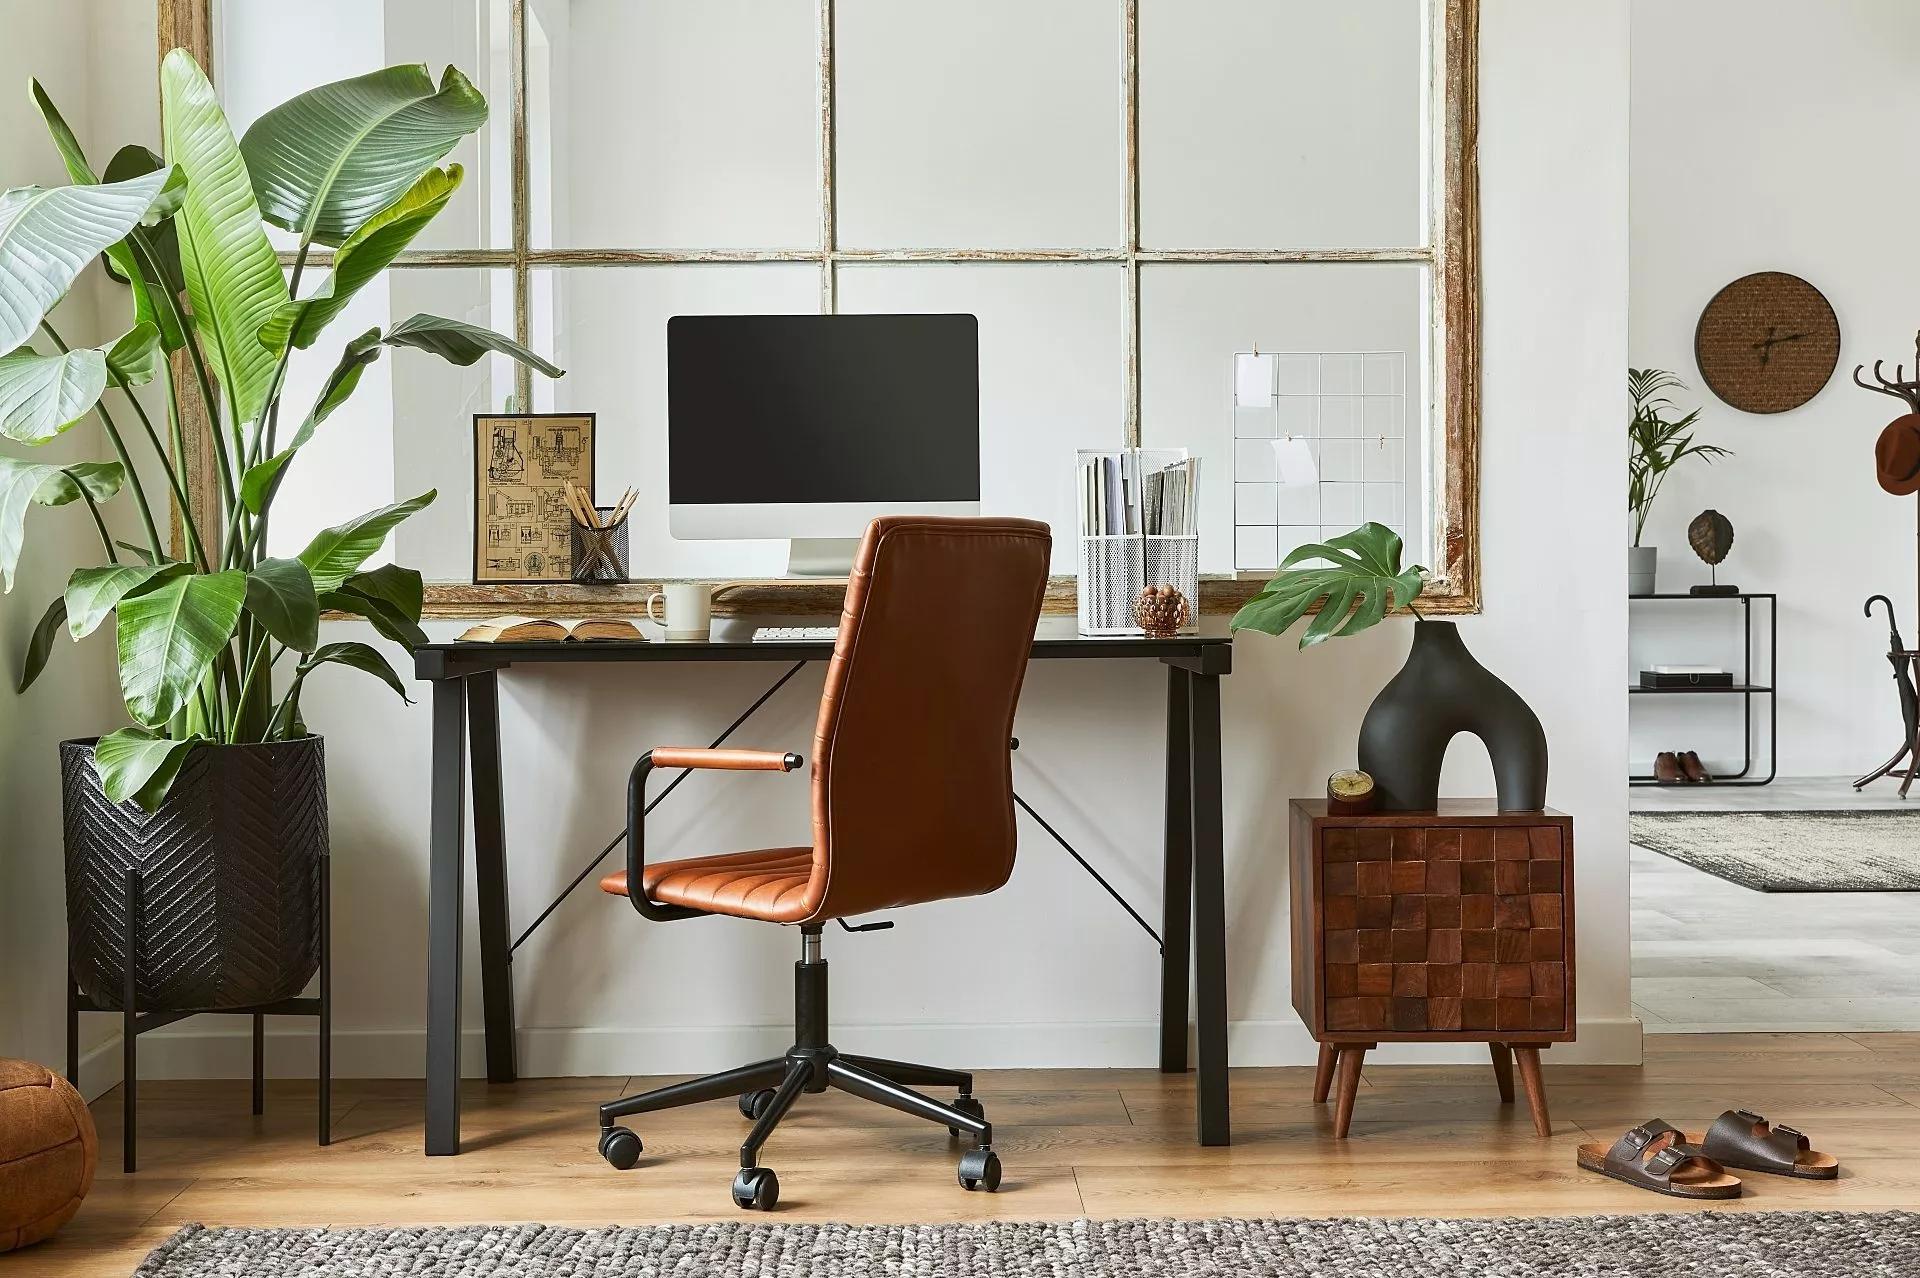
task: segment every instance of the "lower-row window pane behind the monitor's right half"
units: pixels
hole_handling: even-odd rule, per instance
[[[839,272],[845,313],[979,317],[979,505],[1054,528],[1075,572],[1073,451],[1125,432],[1127,280],[1117,265],[872,265]]]

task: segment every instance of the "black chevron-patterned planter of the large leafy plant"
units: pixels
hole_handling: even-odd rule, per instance
[[[319,737],[198,746],[157,812],[100,791],[92,741],[63,741],[73,981],[121,1007],[129,871],[138,875],[134,1006],[255,1007],[321,963],[326,754]]]

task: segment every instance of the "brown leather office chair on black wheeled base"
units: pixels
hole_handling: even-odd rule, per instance
[[[599,1151],[618,1169],[639,1136],[614,1119],[739,1098],[753,1130],[733,1201],[766,1211],[780,1178],[760,1146],[803,1092],[829,1086],[941,1123],[973,1148],[960,1184],[995,1190],[1000,1159],[973,1077],[883,1061],[828,1042],[820,929],[895,906],[993,892],[1014,871],[1012,729],[1046,591],[1050,535],[1031,520],[874,520],[847,583],[847,608],[814,729],[812,844],[645,864],[645,781],[655,768],[793,771],[799,754],[655,748],[626,787],[626,871],[601,890],[659,923],[732,915],[801,929],[793,967],[795,1042],[785,1055],[601,1105]],[[639,883],[641,890],[634,890]],[[885,925],[883,925],[885,927]],[[918,1086],[958,1088],[954,1103]]]

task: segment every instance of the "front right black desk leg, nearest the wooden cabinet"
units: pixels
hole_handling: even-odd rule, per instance
[[[1227,1119],[1227,869],[1219,785],[1219,675],[1190,675],[1194,810],[1194,1009],[1200,1144],[1233,1144]]]

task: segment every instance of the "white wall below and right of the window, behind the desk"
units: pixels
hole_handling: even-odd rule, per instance
[[[1549,58],[1544,50],[1578,50]],[[1626,996],[1626,840],[1619,758],[1624,643],[1619,491],[1567,476],[1617,474],[1626,353],[1626,4],[1486,0],[1482,48],[1486,616],[1467,643],[1540,712],[1553,743],[1549,800],[1576,816],[1578,1046],[1567,1059],[1638,1059]],[[1551,422],[1551,428],[1544,428]],[[301,484],[326,484],[319,470]],[[434,627],[442,633],[455,626]],[[338,624],[328,637],[369,637]],[[1235,1059],[1300,1063],[1311,1044],[1288,1006],[1286,800],[1350,766],[1361,714],[1405,652],[1407,627],[1302,654],[1248,635],[1227,683],[1227,812]],[[507,837],[526,921],[620,825],[624,771],[649,745],[705,741],[774,670],[526,670],[503,679]],[[795,679],[743,745],[804,741],[818,675]],[[1158,913],[1158,666],[1035,666],[1016,781],[1116,885]],[[336,885],[336,1065],[413,1075],[422,1061],[424,706],[338,672],[307,716],[328,741]],[[1478,748],[1448,773],[1490,793]],[[653,846],[722,850],[804,829],[801,777],[695,775],[657,814]],[[655,833],[649,831],[649,833]],[[1150,942],[1041,831],[1021,823],[1012,883],[987,898],[902,911],[899,929],[829,938],[837,1036],[883,1055],[973,1065],[1140,1065],[1154,1059]],[[515,981],[528,1073],[691,1071],[783,1046],[791,933],[735,921],[641,925],[591,890],[520,952]],[[36,967],[58,971],[46,944]],[[478,1067],[478,973],[468,967],[468,1065]],[[52,977],[48,977],[52,979]],[[1400,1059],[1484,1059],[1471,1048]],[[271,1044],[278,1071],[311,1069],[311,1034]],[[142,1044],[163,1073],[242,1073],[244,1038],[213,1021]]]

